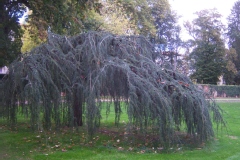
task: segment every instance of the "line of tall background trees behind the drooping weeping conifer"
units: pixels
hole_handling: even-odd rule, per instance
[[[22,53],[45,42],[47,30],[60,35],[108,31],[117,35],[144,35],[160,51],[185,51],[176,69],[198,83],[240,84],[240,1],[221,22],[215,9],[196,13],[185,22],[191,38],[183,41],[178,15],[168,0],[3,0],[0,2],[0,66],[9,65]],[[26,23],[19,18],[28,12]],[[227,44],[227,45],[226,45]]]

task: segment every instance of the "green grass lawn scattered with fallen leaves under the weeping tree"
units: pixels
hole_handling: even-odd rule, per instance
[[[16,130],[0,120],[0,159],[90,159],[90,160],[239,160],[240,159],[240,103],[220,103],[228,129],[216,132],[213,142],[204,147],[179,146],[169,153],[150,146],[126,145],[122,136],[116,134],[127,120],[121,117],[120,127],[114,126],[114,116],[103,117],[98,134],[89,141],[84,128],[63,128],[60,132],[32,132],[26,120],[21,119]],[[124,110],[123,110],[124,111]],[[111,132],[105,131],[113,128]],[[155,153],[157,152],[157,153]]]

